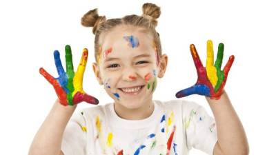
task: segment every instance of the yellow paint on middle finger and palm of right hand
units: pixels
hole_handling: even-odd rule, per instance
[[[215,87],[217,84],[217,69],[214,66],[213,43],[210,40],[207,41],[206,72],[210,83]]]

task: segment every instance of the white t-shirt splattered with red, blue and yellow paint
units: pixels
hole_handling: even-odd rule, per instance
[[[213,154],[217,142],[214,118],[197,103],[154,101],[143,120],[117,116],[114,103],[75,113],[63,134],[65,155],[186,155],[194,147]]]

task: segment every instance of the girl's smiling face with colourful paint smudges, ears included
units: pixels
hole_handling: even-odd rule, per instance
[[[167,56],[157,59],[150,34],[144,29],[120,25],[101,34],[101,56],[93,70],[100,84],[115,100],[128,109],[152,101],[157,77],[166,70]]]

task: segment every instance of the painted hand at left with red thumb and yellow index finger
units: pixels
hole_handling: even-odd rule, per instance
[[[72,62],[72,52],[70,45],[66,45],[66,72],[61,64],[61,59],[59,57],[59,51],[55,50],[55,65],[57,67],[57,72],[59,74],[58,78],[54,78],[43,68],[39,69],[40,74],[42,74],[45,79],[51,83],[55,88],[59,102],[62,105],[75,105],[85,101],[91,104],[98,104],[99,101],[83,91],[82,81],[83,74],[86,70],[86,63],[88,59],[88,50],[83,49],[83,54],[81,56],[81,62],[77,68],[77,72],[74,72],[73,62]]]

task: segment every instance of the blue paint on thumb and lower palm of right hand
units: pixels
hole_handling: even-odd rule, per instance
[[[210,89],[207,85],[193,85],[192,87],[188,87],[184,90],[180,90],[175,94],[177,98],[189,96],[191,94],[199,94],[204,96],[210,96]]]

